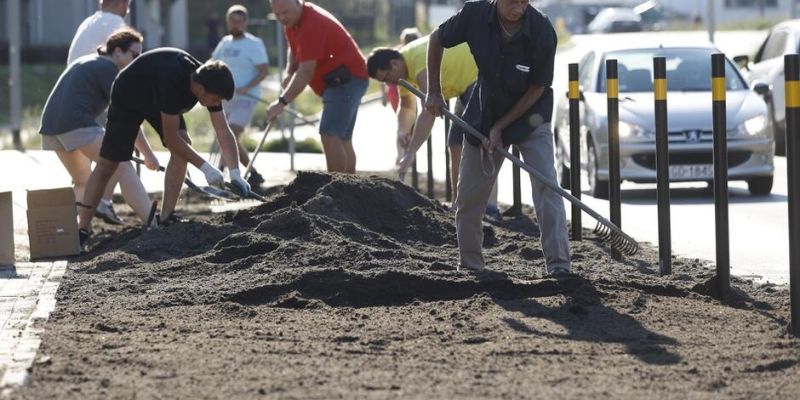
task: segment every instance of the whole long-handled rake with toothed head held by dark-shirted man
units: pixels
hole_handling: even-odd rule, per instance
[[[407,81],[400,79],[398,83],[400,84],[400,86],[403,86],[409,92],[419,97],[421,100],[423,101],[425,100],[425,95]],[[486,139],[485,136],[481,135],[481,133],[478,132],[477,129],[473,128],[470,124],[464,122],[464,120],[462,120],[461,118],[450,112],[450,110],[443,108],[442,113],[451,121],[453,121],[453,123],[463,128],[464,131],[466,131],[470,135],[474,136],[477,139],[480,139],[484,143],[488,141],[488,139]],[[524,163],[522,160],[515,157],[513,154],[509,153],[508,150],[504,149],[503,147],[496,146],[494,149],[495,151],[499,152],[500,154],[511,160],[511,162],[514,163],[514,165],[527,171],[537,181],[547,186],[550,190],[558,193],[559,196],[569,200],[570,203],[574,204],[576,207],[583,210],[583,212],[589,214],[592,218],[594,218],[597,221],[597,225],[594,228],[594,232],[600,237],[600,240],[608,243],[612,248],[628,256],[632,256],[639,251],[639,243],[637,243],[635,239],[628,236],[625,232],[622,231],[622,229],[614,225],[614,223],[607,220],[602,215],[598,214],[591,207],[586,205],[586,203],[580,201],[577,197],[573,196],[571,193],[562,189],[557,184],[551,182],[539,171],[535,170],[530,165]]]

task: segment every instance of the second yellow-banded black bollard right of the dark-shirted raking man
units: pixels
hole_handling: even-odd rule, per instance
[[[608,97],[608,199],[611,222],[622,229],[622,201],[619,191],[619,80],[617,60],[606,60],[606,95]],[[614,259],[622,254],[611,250]]]

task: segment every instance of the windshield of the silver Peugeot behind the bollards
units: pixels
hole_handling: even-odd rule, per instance
[[[684,92],[711,91],[711,54],[708,49],[637,49],[615,51],[606,59],[616,59],[620,92],[653,91],[653,57],[664,57],[667,64],[667,90]],[[598,92],[606,91],[605,62],[600,66]],[[728,90],[746,90],[747,84],[725,59]]]

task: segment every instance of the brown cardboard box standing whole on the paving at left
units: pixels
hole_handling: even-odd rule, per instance
[[[28,191],[28,238],[32,259],[80,254],[72,188]]]

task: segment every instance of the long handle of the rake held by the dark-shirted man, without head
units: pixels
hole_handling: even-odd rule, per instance
[[[419,97],[423,101],[425,100],[425,95],[421,91],[419,91],[419,89],[415,88],[414,86],[412,86],[407,81],[405,81],[403,79],[400,79],[398,81],[398,83],[401,86],[403,86],[404,88],[406,88],[408,91],[413,93],[415,96]],[[473,128],[472,125],[466,123],[463,119],[459,118],[458,116],[456,116],[455,114],[450,112],[450,110],[448,110],[446,108],[442,108],[442,113],[447,118],[450,118],[450,120],[453,121],[453,123],[455,123],[456,125],[458,125],[461,128],[463,128],[470,135],[474,136],[477,139],[480,139],[482,142],[487,141],[486,136],[481,135],[481,133],[478,132],[477,129]],[[573,196],[571,193],[569,193],[566,190],[562,189],[560,186],[554,184],[553,182],[550,182],[550,180],[547,179],[547,177],[542,175],[539,171],[533,169],[533,167],[531,167],[530,165],[524,163],[519,158],[515,157],[508,150],[504,149],[501,146],[495,146],[494,150],[499,152],[500,154],[502,154],[504,157],[508,158],[509,160],[511,160],[511,162],[514,163],[514,165],[516,165],[516,166],[524,169],[525,171],[527,171],[534,178],[536,178],[537,181],[539,181],[543,185],[547,186],[550,190],[553,190],[554,192],[558,193],[561,197],[569,200],[570,203],[574,204],[575,206],[577,206],[578,208],[583,210],[585,213],[589,214],[592,218],[596,219],[601,224],[605,225],[606,227],[608,227],[609,229],[611,229],[615,233],[621,235],[626,240],[629,240],[631,243],[636,243],[636,240],[634,240],[632,237],[628,236],[625,232],[623,232],[621,229],[619,229],[619,227],[614,225],[611,221],[609,221],[608,219],[606,219],[602,215],[598,214],[596,211],[592,210],[588,205],[586,205],[584,202],[580,201],[577,197]]]

